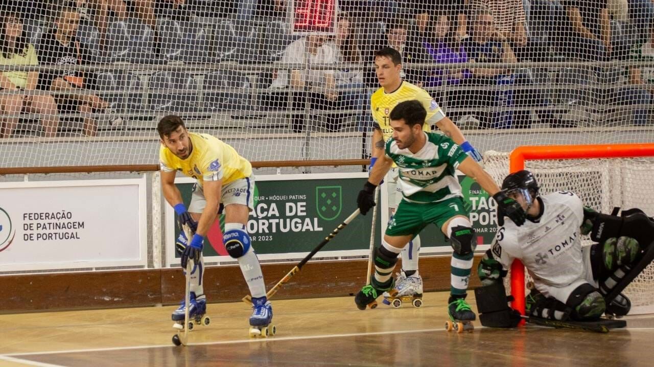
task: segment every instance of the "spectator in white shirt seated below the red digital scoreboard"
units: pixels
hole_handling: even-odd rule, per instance
[[[331,64],[335,63],[334,48],[324,44],[325,38],[311,35],[295,40],[286,47],[281,63],[290,64]],[[303,110],[309,103],[311,110],[333,110],[338,95],[332,70],[292,69],[279,70],[273,75],[271,89],[292,89],[292,108]],[[273,98],[285,101],[286,93],[274,93]],[[292,115],[292,129],[299,133],[305,123],[304,114]],[[328,115],[328,127],[335,128],[334,118]]]

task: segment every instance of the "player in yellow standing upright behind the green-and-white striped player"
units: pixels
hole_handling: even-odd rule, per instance
[[[387,47],[375,52],[375,71],[381,88],[373,93],[370,101],[371,113],[375,120],[372,140],[372,154],[370,170],[377,159],[384,157],[385,142],[390,139],[393,129],[390,127],[390,112],[399,103],[417,100],[427,112],[426,121],[422,130],[430,131],[432,125],[438,128],[445,136],[454,140],[461,149],[468,153],[480,165],[483,165],[481,154],[466,141],[455,123],[445,116],[443,110],[427,91],[402,80],[402,56],[397,50]],[[388,191],[389,218],[392,219],[398,204],[402,201],[402,190],[398,185],[398,168],[396,165],[388,171],[384,178]],[[420,237],[416,234],[408,246],[402,250],[402,272],[396,279],[398,296],[422,297],[422,278],[418,274],[418,253],[420,251]],[[385,294],[384,303],[392,302]]]

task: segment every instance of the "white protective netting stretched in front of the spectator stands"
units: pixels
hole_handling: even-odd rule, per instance
[[[165,114],[250,160],[360,158],[384,46],[481,152],[654,138],[648,0],[2,5],[0,167],[156,163]]]

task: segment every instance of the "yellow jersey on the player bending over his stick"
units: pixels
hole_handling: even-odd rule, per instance
[[[252,165],[232,146],[209,134],[188,133],[193,150],[186,159],[180,159],[165,146],[159,149],[163,172],[181,171],[186,176],[204,181],[222,180],[222,184],[252,176]]]

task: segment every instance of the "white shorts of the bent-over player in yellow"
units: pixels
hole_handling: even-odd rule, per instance
[[[232,181],[222,186],[220,193],[220,208],[229,204],[247,205],[250,210],[254,209],[254,175],[239,180]],[[207,206],[207,199],[204,197],[202,187],[196,183],[193,185],[191,194],[191,204],[188,211],[191,213],[201,213]],[[222,210],[218,209],[218,213]]]

